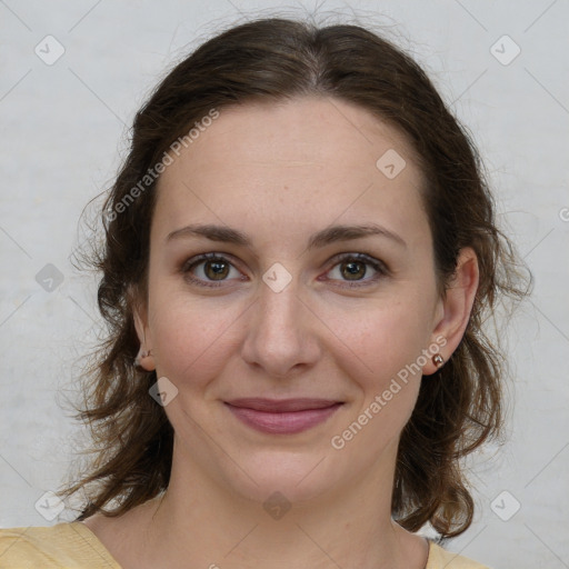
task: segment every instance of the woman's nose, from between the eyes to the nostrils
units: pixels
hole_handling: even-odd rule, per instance
[[[300,298],[295,278],[279,292],[261,282],[258,299],[248,312],[241,356],[249,366],[268,377],[286,379],[318,361],[318,319],[307,300]]]

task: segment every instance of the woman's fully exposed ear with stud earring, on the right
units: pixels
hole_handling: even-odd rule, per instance
[[[452,356],[465,336],[478,282],[478,258],[472,248],[466,247],[459,252],[452,280],[446,289],[443,298],[439,299],[436,309],[431,346],[440,347],[439,353],[445,361]],[[423,376],[430,376],[437,370],[438,367],[429,359],[423,367]]]

